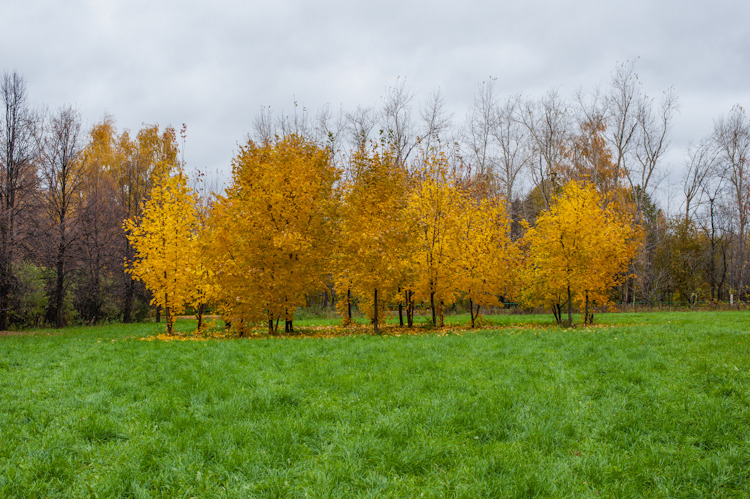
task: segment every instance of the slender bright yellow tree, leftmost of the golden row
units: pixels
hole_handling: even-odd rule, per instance
[[[167,333],[172,332],[175,315],[196,296],[196,203],[195,193],[178,170],[154,185],[139,217],[125,222],[135,250],[127,272],[143,281],[152,293],[151,303],[164,310]]]

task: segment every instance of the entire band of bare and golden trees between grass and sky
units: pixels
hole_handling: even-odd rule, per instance
[[[335,303],[346,317],[357,304],[376,322],[393,307],[408,323],[415,303],[429,307],[437,322],[456,300],[471,306],[472,316],[477,304],[520,300],[549,306],[562,320],[564,310],[585,311],[589,301],[747,299],[746,113],[735,106],[691,148],[684,202],[678,213],[665,213],[654,199],[666,173],[677,99],[671,90],[659,101],[647,96],[632,64],[617,66],[603,91],[571,99],[556,91],[539,99],[499,99],[488,80],[460,125],[439,94],[420,104],[403,84],[388,89],[378,108],[311,113],[295,106],[293,114],[281,116],[264,109],[233,162],[231,184],[218,196],[188,187],[205,177],[186,178],[179,152],[184,130],[146,126],[131,136],[105,120],[83,131],[71,108],[34,111],[17,74],[3,77],[2,94],[0,329],[127,322],[158,313],[149,303],[164,298],[144,286],[136,269],[147,250],[137,248],[133,237],[144,227],[145,203],[178,191],[193,208],[183,207],[180,217],[191,228],[187,239],[173,244],[183,258],[175,272],[182,269],[185,278],[183,271],[191,268],[187,279],[205,285],[199,299],[195,292],[172,297],[170,313],[180,303],[201,309],[209,301],[212,307],[233,302],[239,304],[232,312],[238,323],[263,316],[275,329],[280,319],[291,327],[296,307],[311,301]],[[310,165],[317,165],[315,173]],[[263,199],[258,193],[277,199],[253,207]],[[598,211],[561,215],[571,204],[566,199]],[[281,212],[271,209],[275,203],[297,218],[282,223]],[[449,223],[431,233],[429,216]],[[626,244],[610,249],[625,268],[598,271],[609,275],[599,280],[607,283],[604,291],[580,294],[571,283],[588,279],[585,273],[568,272],[560,280],[559,270],[545,274],[557,275],[557,284],[544,289],[541,263],[529,263],[538,257],[534,238],[541,247],[540,234],[552,230],[545,227],[559,230],[571,217],[578,217],[573,235],[597,235],[602,220],[621,231]],[[548,224],[550,219],[556,221]],[[300,236],[303,221],[318,224],[318,239]],[[232,223],[247,226],[243,232]],[[206,231],[210,236],[198,237]],[[472,231],[479,239],[470,239]],[[438,245],[443,253],[424,253],[429,241],[441,241],[439,234],[453,234]],[[480,240],[479,234],[489,235]],[[219,243],[222,258],[216,257]],[[198,267],[184,260],[191,245],[197,245],[190,258]],[[260,259],[252,260],[251,250]],[[274,267],[276,253],[299,266],[284,274]],[[579,255],[580,262],[591,267],[595,255]],[[451,262],[448,271],[430,268],[441,258]],[[383,266],[371,281],[363,277],[367,265]],[[445,272],[452,276],[450,289],[438,283]],[[486,289],[474,292],[481,286],[466,284],[472,279]],[[560,284],[566,280],[570,294]],[[258,295],[267,283],[272,291]]]

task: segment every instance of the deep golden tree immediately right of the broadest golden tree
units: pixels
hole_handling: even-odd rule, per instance
[[[397,299],[410,265],[410,219],[406,172],[392,148],[366,144],[353,154],[352,180],[343,188],[334,252],[335,286],[351,321],[352,295],[370,317],[375,332],[388,302]]]

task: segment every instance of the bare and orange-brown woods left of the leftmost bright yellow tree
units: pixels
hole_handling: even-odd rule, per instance
[[[16,73],[0,92],[0,330],[148,317],[150,293],[125,272],[123,221],[175,161],[175,131],[131,136],[105,120],[86,132],[71,107],[35,109]]]

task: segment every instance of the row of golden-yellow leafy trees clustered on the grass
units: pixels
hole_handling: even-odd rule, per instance
[[[126,223],[129,272],[153,293],[171,330],[175,312],[210,303],[239,331],[270,333],[311,293],[332,284],[344,323],[356,306],[377,331],[387,310],[413,324],[415,306],[442,325],[463,300],[521,300],[572,322],[592,318],[638,250],[629,210],[593,183],[560,185],[548,210],[513,241],[506,203],[444,154],[405,165],[386,141],[366,142],[337,167],[331,151],[289,134],[243,146],[226,191],[208,207],[180,162],[156,173],[150,199]]]

